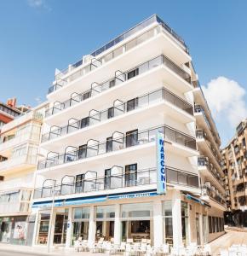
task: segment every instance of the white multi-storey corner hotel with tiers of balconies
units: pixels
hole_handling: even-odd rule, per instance
[[[207,106],[197,80],[186,44],[157,15],[56,73],[40,146],[47,155],[37,166],[33,244],[71,247],[78,237],[104,237],[177,247],[221,236],[223,200],[201,198],[201,185],[214,176],[198,168],[198,148],[209,152],[197,145],[195,100]],[[158,131],[165,195],[157,194]]]

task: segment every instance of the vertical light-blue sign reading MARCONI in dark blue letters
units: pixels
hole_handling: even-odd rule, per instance
[[[164,161],[164,134],[157,133],[156,136],[157,154],[157,194],[166,194],[166,170]]]

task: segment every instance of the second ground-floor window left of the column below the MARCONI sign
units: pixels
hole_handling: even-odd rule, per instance
[[[95,207],[96,241],[103,237],[110,241],[114,237],[115,206]]]

